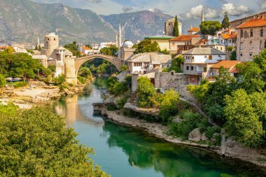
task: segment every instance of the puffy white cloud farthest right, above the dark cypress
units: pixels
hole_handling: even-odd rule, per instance
[[[250,9],[247,6],[244,5],[235,6],[235,4],[233,3],[224,3],[222,9],[223,12],[227,11],[228,15],[231,16],[240,16],[250,11]]]

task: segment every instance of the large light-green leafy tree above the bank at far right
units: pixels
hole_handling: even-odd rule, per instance
[[[240,89],[233,92],[231,97],[226,96],[225,104],[227,132],[244,146],[260,146],[265,131],[246,91]]]

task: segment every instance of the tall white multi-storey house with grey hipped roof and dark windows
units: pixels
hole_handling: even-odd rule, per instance
[[[193,48],[183,56],[183,72],[189,75],[188,83],[199,84],[212,65],[225,60],[226,53],[216,48]]]

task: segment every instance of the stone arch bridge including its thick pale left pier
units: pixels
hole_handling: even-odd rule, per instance
[[[82,66],[85,62],[95,59],[95,58],[101,58],[105,59],[108,62],[111,62],[118,71],[120,71],[123,60],[117,57],[109,56],[109,55],[89,55],[86,57],[80,57],[76,59],[66,58],[65,61],[65,77],[66,82],[76,85],[78,83],[78,70],[80,69],[80,66]]]

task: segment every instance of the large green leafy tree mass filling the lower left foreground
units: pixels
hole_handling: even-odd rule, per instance
[[[107,176],[64,118],[45,108],[0,106],[0,176]]]

